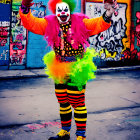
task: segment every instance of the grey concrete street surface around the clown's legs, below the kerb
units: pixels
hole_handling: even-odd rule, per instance
[[[0,80],[0,140],[47,140],[60,130],[54,83],[21,75]],[[99,71],[87,83],[87,140],[140,140],[139,83],[140,70],[134,69]],[[75,128],[73,120],[71,140]]]

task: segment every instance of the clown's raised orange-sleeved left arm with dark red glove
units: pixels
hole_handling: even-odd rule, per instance
[[[30,3],[31,1],[28,1],[28,4],[25,2],[25,0],[22,1],[21,8],[19,10],[23,26],[35,34],[44,35],[45,29],[48,25],[47,20],[44,18],[34,17],[30,10],[30,6],[32,5]]]

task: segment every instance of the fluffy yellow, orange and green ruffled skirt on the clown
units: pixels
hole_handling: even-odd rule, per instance
[[[88,80],[96,78],[97,67],[93,63],[93,57],[96,56],[97,53],[93,48],[87,48],[83,58],[77,57],[75,62],[60,62],[56,59],[55,52],[51,51],[43,58],[46,64],[45,72],[56,84],[67,83],[70,86],[77,86],[80,90]]]

